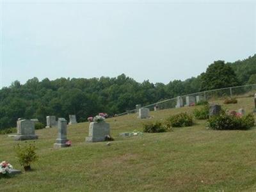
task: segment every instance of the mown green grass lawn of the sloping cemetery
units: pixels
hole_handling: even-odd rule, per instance
[[[222,101],[216,101],[222,103]],[[238,99],[226,109],[253,110],[253,98]],[[57,130],[36,130],[40,159],[32,172],[0,179],[0,191],[256,191],[256,129],[212,131],[205,121],[172,132],[144,133],[121,138],[120,132],[142,131],[142,124],[163,120],[196,107],[151,112],[154,118],[140,120],[136,114],[109,118],[110,146],[85,143],[88,123],[68,126],[72,147],[54,149]],[[15,159],[13,141],[0,135],[0,161]],[[33,142],[33,141],[28,141]]]

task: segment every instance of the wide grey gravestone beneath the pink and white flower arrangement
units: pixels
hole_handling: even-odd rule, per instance
[[[110,135],[110,126],[106,122],[91,122],[89,134],[85,138],[86,142],[106,141],[106,136]]]

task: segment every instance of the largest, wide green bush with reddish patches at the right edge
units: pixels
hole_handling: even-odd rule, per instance
[[[241,117],[222,112],[220,115],[212,116],[207,121],[207,127],[216,130],[247,130],[254,124],[255,120],[252,113]]]

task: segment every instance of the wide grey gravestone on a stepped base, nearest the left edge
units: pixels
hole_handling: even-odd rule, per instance
[[[35,134],[35,122],[31,120],[17,121],[17,134],[14,136],[18,140],[37,140],[38,136]]]

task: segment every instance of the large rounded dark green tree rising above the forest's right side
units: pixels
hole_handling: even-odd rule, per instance
[[[201,90],[213,90],[239,84],[234,70],[224,61],[214,61],[201,76]]]

